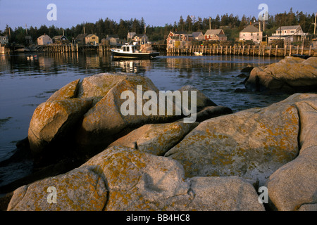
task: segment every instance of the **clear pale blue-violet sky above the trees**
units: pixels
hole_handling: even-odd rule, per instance
[[[57,20],[47,20],[49,4],[56,4]],[[0,30],[6,25],[18,26],[72,27],[83,22],[95,23],[99,18],[110,18],[117,22],[142,17],[147,25],[172,24],[187,15],[196,18],[216,18],[216,15],[256,16],[261,9],[259,4],[268,5],[268,13],[303,11],[317,12],[317,0],[0,0]]]

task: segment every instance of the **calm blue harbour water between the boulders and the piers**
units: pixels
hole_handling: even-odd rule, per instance
[[[144,75],[164,91],[192,85],[216,104],[235,112],[287,98],[235,92],[244,88],[244,78],[237,77],[242,68],[275,63],[281,58],[159,56],[154,60],[113,61],[109,53],[32,55],[37,55],[37,59],[27,60],[29,54],[0,56],[0,161],[9,158],[15,143],[27,136],[32,113],[39,103],[69,82],[100,72]]]

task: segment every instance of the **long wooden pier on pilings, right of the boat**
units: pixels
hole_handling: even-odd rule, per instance
[[[167,49],[168,54],[172,55],[194,55],[194,53],[202,53],[203,55],[220,55],[220,56],[292,56],[294,54],[301,54],[306,56],[317,56],[317,49],[312,46],[304,48],[303,46],[284,46],[284,48],[273,48],[271,45],[258,46],[187,46],[183,48]]]

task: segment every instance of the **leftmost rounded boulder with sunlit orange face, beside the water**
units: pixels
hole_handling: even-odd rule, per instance
[[[35,109],[30,121],[28,139],[30,149],[39,154],[53,140],[68,136],[77,122],[87,112],[92,99],[70,98],[46,101]],[[63,140],[65,141],[65,140]]]

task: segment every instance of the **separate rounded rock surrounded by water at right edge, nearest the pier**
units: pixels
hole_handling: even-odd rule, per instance
[[[254,68],[245,84],[250,90],[316,88],[317,57],[285,57],[267,67]]]

